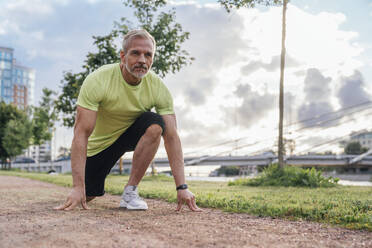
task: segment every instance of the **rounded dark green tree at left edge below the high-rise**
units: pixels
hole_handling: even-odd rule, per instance
[[[0,160],[22,153],[30,140],[31,125],[24,111],[0,102]]]

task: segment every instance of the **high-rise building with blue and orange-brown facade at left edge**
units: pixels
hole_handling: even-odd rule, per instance
[[[13,52],[0,47],[0,100],[25,109],[34,105],[35,70],[17,64]]]

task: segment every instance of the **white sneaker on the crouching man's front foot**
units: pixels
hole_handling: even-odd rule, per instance
[[[120,207],[129,210],[147,210],[147,203],[138,195],[137,186],[128,185],[121,195]]]

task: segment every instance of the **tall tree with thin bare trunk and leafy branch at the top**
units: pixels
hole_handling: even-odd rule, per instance
[[[279,167],[284,167],[284,144],[283,144],[283,113],[284,113],[284,68],[285,68],[285,37],[286,37],[286,13],[288,0],[218,0],[229,12],[231,8],[253,8],[256,4],[278,5],[283,4],[282,15],[282,51],[280,54],[280,82],[279,82],[279,138],[278,160]]]

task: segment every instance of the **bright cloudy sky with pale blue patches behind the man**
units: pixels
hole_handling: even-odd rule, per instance
[[[276,150],[281,7],[227,13],[210,0],[172,7],[190,32],[182,47],[195,58],[164,78],[185,156]],[[1,0],[0,46],[36,70],[38,101],[44,87],[60,91],[63,72],[82,70],[93,35],[108,34],[121,17],[135,23],[132,13],[121,0]],[[339,139],[370,128],[371,21],[368,0],[290,1],[284,132],[295,154],[341,152]],[[72,130],[60,123],[56,130],[54,148],[70,146]]]

